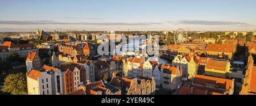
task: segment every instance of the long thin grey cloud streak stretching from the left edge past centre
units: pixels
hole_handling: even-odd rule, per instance
[[[150,26],[155,24],[163,24],[163,23],[65,23],[65,22],[53,22],[51,20],[41,20],[41,21],[16,21],[16,20],[8,20],[1,21],[0,24],[13,24],[13,25],[39,25],[39,24],[62,24],[62,25],[96,25],[96,26]]]

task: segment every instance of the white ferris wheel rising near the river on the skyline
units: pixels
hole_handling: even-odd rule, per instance
[[[188,39],[188,32],[184,29],[177,29],[174,31],[174,42],[175,43],[184,43]]]

